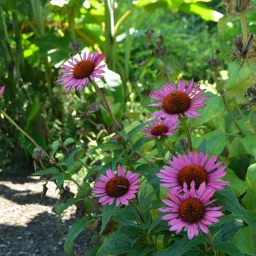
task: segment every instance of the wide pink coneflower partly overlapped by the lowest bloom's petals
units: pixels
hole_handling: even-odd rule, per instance
[[[157,177],[163,183],[161,187],[171,187],[179,192],[183,188],[184,182],[190,187],[192,181],[195,181],[195,188],[200,184],[206,183],[207,188],[222,190],[223,186],[229,184],[228,181],[219,181],[226,175],[227,166],[222,162],[216,162],[217,156],[208,159],[208,153],[189,152],[187,155],[178,154],[172,160],[167,160],[170,166],[163,166],[157,173]]]

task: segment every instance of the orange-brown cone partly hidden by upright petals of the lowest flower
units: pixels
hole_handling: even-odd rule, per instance
[[[199,165],[187,165],[178,172],[178,183],[183,186],[184,181],[190,189],[190,184],[195,181],[195,188],[198,189],[203,181],[208,180],[208,174],[203,167]]]

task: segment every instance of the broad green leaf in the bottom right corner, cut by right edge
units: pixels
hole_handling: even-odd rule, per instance
[[[255,255],[255,234],[250,227],[244,227],[233,236],[233,244],[246,255]]]

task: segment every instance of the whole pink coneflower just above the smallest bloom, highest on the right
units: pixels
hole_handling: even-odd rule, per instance
[[[153,90],[149,94],[152,99],[160,101],[149,106],[162,108],[162,110],[152,113],[151,116],[165,118],[167,121],[177,120],[178,116],[196,118],[200,114],[195,112],[195,110],[206,107],[206,104],[203,104],[203,102],[208,97],[200,97],[206,90],[199,91],[199,85],[197,83],[194,84],[193,80],[189,80],[187,85],[184,80],[180,80],[177,86],[175,83],[172,85],[165,83],[162,87],[163,90]]]

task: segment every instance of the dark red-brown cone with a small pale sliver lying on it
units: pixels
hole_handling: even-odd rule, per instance
[[[124,177],[111,178],[106,185],[106,193],[110,197],[121,197],[129,189],[129,181]]]

